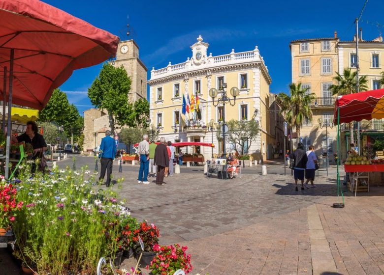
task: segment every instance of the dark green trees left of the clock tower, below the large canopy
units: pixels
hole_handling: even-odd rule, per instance
[[[80,136],[84,127],[84,118],[75,105],[69,104],[66,94],[60,89],[53,91],[47,106],[40,111],[39,122],[51,122],[57,126],[63,125],[67,137],[72,134],[75,137]]]

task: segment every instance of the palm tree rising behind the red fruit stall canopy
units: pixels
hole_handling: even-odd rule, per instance
[[[332,95],[346,95],[346,94],[353,94],[356,90],[356,71],[353,71],[350,68],[344,68],[343,75],[340,75],[338,72],[336,72],[336,75],[333,79],[337,81],[338,84],[332,84],[329,89],[332,92]],[[359,91],[367,91],[368,80],[367,76],[361,76],[359,78]],[[350,137],[351,137],[351,143],[354,143],[353,138],[353,122],[349,123],[350,128]]]

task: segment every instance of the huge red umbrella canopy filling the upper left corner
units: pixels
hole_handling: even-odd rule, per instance
[[[44,2],[0,0],[0,91],[11,49],[12,101],[41,110],[73,70],[114,57],[118,43],[117,36]]]

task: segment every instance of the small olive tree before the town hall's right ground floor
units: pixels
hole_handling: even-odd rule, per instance
[[[241,149],[241,155],[244,155],[245,143],[248,142],[248,148],[251,147],[253,140],[257,137],[259,126],[256,120],[238,121],[229,120],[227,122],[229,128],[228,142]]]

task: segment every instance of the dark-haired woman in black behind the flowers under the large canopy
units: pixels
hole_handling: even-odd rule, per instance
[[[31,143],[33,148],[33,156],[32,160],[40,159],[39,163],[39,170],[44,172],[45,168],[47,167],[47,162],[44,157],[44,152],[47,150],[47,143],[45,142],[42,135],[37,133],[38,128],[34,121],[28,121],[27,122],[27,130],[25,133],[21,134],[20,136],[11,136],[13,142],[25,142],[25,143]],[[34,172],[36,169],[36,166],[32,165],[32,172]]]

